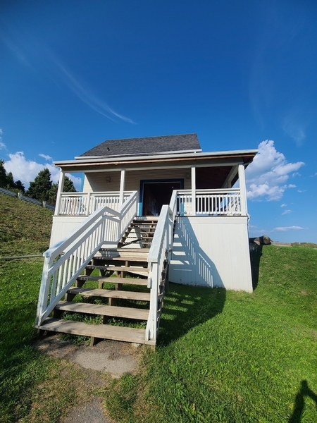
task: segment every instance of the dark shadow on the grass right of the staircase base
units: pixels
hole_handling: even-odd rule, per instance
[[[158,345],[170,344],[190,329],[221,313],[225,295],[224,288],[170,283],[164,297]]]

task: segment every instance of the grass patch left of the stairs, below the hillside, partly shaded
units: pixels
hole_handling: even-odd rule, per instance
[[[97,391],[80,366],[35,348],[32,325],[42,265],[35,260],[0,264],[1,423],[59,422],[72,405]]]

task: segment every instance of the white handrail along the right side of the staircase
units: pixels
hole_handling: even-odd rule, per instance
[[[173,247],[176,192],[177,191],[173,191],[170,205],[164,205],[161,209],[147,259],[149,267],[148,288],[151,288],[151,301],[145,336],[147,341],[154,341],[154,343],[156,342],[156,336],[159,331],[161,315],[161,306],[159,306],[159,302],[163,300],[164,293],[164,286],[161,286],[161,278],[166,260],[168,263],[170,262],[170,255]]]

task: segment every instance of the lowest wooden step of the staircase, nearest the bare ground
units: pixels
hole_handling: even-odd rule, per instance
[[[154,341],[146,341],[145,329],[125,328],[123,326],[110,326],[108,324],[87,324],[82,321],[46,319],[42,331],[70,333],[73,335],[91,336],[93,338],[111,339],[130,343],[147,343],[154,345]]]

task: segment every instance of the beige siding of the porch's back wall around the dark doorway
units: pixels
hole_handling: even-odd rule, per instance
[[[147,169],[146,171],[126,171],[125,173],[125,191],[139,191],[140,180],[159,180],[159,179],[184,179],[184,189],[191,187],[190,168],[174,169]],[[106,183],[106,177],[110,176],[111,182]],[[82,192],[102,192],[120,190],[120,171],[86,173]]]

